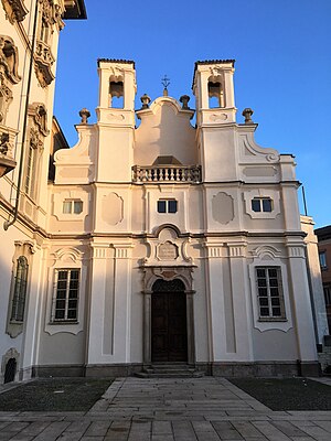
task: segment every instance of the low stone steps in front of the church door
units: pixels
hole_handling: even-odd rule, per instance
[[[201,378],[204,372],[196,370],[192,365],[162,363],[152,364],[136,376],[139,378]]]

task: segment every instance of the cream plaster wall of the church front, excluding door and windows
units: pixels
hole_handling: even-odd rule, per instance
[[[41,336],[42,367],[84,359],[93,375],[148,365],[149,302],[160,278],[186,287],[190,363],[216,375],[241,364],[268,366],[269,374],[281,372],[275,366],[297,372],[297,359],[316,364],[293,158],[257,146],[253,121],[235,122],[233,65],[211,64],[195,69],[195,130],[193,110],[168,95],[136,111],[135,129],[134,63],[99,61],[98,122],[78,125],[78,143],[55,153],[49,186],[50,256],[58,268],[66,259],[82,268],[79,320],[50,323],[47,290],[43,326],[56,331]],[[225,107],[216,109],[204,107],[213,69],[226,93]],[[109,106],[111,82],[124,83],[122,109]],[[270,211],[253,209],[252,200],[261,197],[271,201]],[[159,213],[160,200],[177,201],[177,212]],[[82,211],[63,213],[68,201]],[[54,268],[46,266],[53,287]],[[281,273],[278,320],[259,315],[256,267],[266,266]],[[43,351],[61,347],[65,333],[71,358]]]

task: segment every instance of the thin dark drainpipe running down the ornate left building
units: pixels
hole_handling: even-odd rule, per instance
[[[17,187],[17,197],[15,197],[15,206],[12,220],[6,220],[3,223],[3,229],[7,232],[8,228],[13,225],[18,218],[19,214],[19,202],[20,202],[20,193],[21,193],[21,184],[22,184],[22,174],[23,174],[23,160],[24,160],[24,147],[26,141],[26,126],[28,126],[28,110],[29,110],[29,98],[30,98],[30,89],[31,89],[31,80],[32,80],[32,68],[34,64],[34,50],[35,50],[35,34],[36,34],[36,23],[38,23],[38,3],[39,0],[35,0],[35,9],[34,9],[34,22],[33,22],[33,31],[32,31],[32,42],[31,42],[31,58],[29,66],[29,75],[28,75],[28,85],[26,85],[26,100],[25,100],[25,110],[24,110],[24,121],[23,121],[23,130],[22,130],[22,144],[21,144],[21,154],[20,154],[20,163],[19,163],[19,178],[18,178],[18,187]]]

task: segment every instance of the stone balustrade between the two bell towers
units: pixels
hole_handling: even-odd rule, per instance
[[[200,165],[134,165],[132,182],[201,182]]]

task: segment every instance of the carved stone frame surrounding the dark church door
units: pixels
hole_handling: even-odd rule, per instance
[[[157,267],[149,266],[143,268],[143,365],[151,364],[151,295],[152,287],[158,279],[171,281],[179,279],[184,283],[186,295],[186,326],[188,326],[188,363],[195,364],[195,342],[194,342],[194,311],[192,290],[193,266],[185,267]]]

